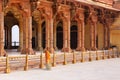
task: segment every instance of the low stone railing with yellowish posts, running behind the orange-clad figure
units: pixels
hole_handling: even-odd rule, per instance
[[[101,50],[101,51],[85,51],[72,53],[54,53],[50,55],[50,64],[67,65],[68,63],[75,64],[76,62],[103,60],[120,57],[117,50]],[[40,55],[20,55],[20,56],[6,56],[0,57],[0,73],[10,73],[14,70],[28,70],[31,68],[45,68],[46,60],[45,54]]]

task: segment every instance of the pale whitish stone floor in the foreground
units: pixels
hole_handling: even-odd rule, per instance
[[[120,80],[120,58],[0,74],[0,80]]]

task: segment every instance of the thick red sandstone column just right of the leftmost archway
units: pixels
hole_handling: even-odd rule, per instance
[[[32,49],[32,18],[25,16],[24,20],[24,46],[22,54],[35,54]]]

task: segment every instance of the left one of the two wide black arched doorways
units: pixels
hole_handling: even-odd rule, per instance
[[[57,25],[57,48],[62,49],[63,48],[63,23],[59,22]]]

